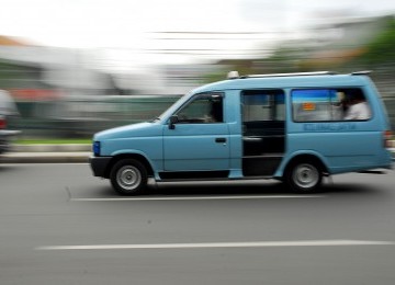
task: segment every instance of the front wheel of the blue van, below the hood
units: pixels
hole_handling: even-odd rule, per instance
[[[147,169],[135,159],[122,159],[111,169],[110,181],[121,195],[136,195],[147,187]]]

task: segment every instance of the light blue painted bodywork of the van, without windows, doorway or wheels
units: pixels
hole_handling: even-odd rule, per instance
[[[363,89],[372,117],[363,122],[297,123],[292,118],[291,92],[309,88]],[[380,96],[364,76],[305,76],[226,80],[191,91],[159,119],[127,125],[94,135],[100,156],[134,153],[150,164],[154,176],[167,171],[229,171],[228,178],[242,179],[242,90],[281,89],[285,94],[285,150],[273,176],[281,178],[296,156],[317,157],[330,174],[390,168],[391,153],[383,147],[383,133],[390,129]],[[194,94],[221,91],[224,96],[224,122],[216,124],[177,124],[169,118]],[[218,142],[217,139],[221,139]],[[225,142],[224,142],[225,140]]]

